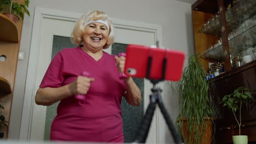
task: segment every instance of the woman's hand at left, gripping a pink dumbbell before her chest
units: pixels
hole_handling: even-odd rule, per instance
[[[78,76],[76,80],[69,84],[69,91],[72,95],[86,94],[92,81],[94,81],[92,77]]]

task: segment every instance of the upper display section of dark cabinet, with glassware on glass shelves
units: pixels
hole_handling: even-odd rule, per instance
[[[201,53],[208,73],[219,71],[222,74],[254,61],[256,1],[219,0],[207,3],[219,8],[206,11],[199,6],[193,9],[193,24],[195,48],[199,49],[196,52]],[[199,22],[199,16],[202,15],[203,20]],[[196,29],[196,25],[201,27]]]

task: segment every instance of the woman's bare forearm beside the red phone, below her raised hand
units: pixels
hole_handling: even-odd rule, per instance
[[[132,77],[128,77],[126,80],[127,92],[125,94],[126,101],[132,106],[141,105],[141,91],[132,80]]]

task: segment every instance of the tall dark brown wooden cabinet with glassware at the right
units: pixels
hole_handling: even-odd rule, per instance
[[[197,0],[191,6],[195,51],[200,53],[203,67],[208,73],[214,72],[210,64],[223,67],[220,75],[209,80],[217,113],[216,143],[232,143],[231,136],[237,135],[232,112],[219,103],[240,86],[247,87],[254,97],[242,106],[241,133],[248,135],[249,142],[256,142],[256,56],[252,51],[256,46],[255,8],[255,0]],[[246,55],[254,60],[242,64]]]

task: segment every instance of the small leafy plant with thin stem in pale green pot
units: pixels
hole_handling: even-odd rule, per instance
[[[230,110],[232,110],[238,124],[239,135],[232,136],[234,144],[248,143],[247,135],[241,135],[241,107],[243,103],[250,99],[253,99],[251,92],[249,92],[249,89],[245,87],[238,87],[233,93],[225,95],[222,99],[221,103],[223,103],[223,106],[227,106]],[[239,112],[239,121],[236,117],[237,111]]]

